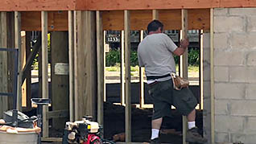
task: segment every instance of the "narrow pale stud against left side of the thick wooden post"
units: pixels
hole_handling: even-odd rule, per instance
[[[69,121],[74,121],[74,13],[68,10]]]

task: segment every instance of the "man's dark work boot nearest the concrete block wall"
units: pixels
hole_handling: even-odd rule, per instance
[[[197,127],[194,127],[187,131],[186,142],[205,143],[207,139],[198,133]]]

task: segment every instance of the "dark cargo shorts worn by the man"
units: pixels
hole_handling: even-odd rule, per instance
[[[149,84],[149,93],[154,105],[152,120],[171,117],[171,105],[175,106],[177,111],[184,116],[188,116],[197,105],[196,97],[191,90],[189,88],[175,90],[172,80]]]

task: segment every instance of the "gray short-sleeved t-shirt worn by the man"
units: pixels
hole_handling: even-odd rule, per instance
[[[176,48],[168,35],[147,35],[138,45],[138,64],[145,67],[146,76],[163,76],[175,72],[172,51]]]

